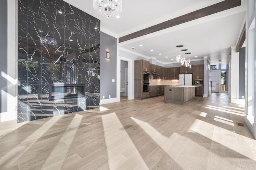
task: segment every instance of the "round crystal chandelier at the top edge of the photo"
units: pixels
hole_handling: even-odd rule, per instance
[[[114,17],[122,12],[122,0],[93,0],[93,8],[102,16]]]

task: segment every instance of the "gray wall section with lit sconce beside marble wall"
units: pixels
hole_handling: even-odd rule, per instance
[[[110,59],[106,58],[106,52],[110,52]],[[116,60],[117,41],[106,33],[100,33],[100,99],[116,98]],[[112,82],[112,79],[115,82]]]

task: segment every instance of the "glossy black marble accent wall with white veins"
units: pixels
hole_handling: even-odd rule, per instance
[[[85,97],[49,100],[50,84]],[[62,0],[18,0],[18,122],[99,106],[100,20]]]

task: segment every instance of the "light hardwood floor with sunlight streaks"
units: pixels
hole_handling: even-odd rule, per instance
[[[7,168],[255,170],[256,141],[244,107],[231,104],[228,94],[184,105],[166,104],[164,96],[122,100],[27,123],[0,123],[0,169]]]

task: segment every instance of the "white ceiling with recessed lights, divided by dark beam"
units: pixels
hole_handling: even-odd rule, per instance
[[[100,16],[93,9],[93,0],[64,1],[100,19],[101,31],[118,38],[223,0],[123,0],[119,19]],[[241,1],[241,6],[124,41],[118,46],[162,63],[175,62],[180,52],[190,59],[207,56],[212,65],[219,64],[218,59],[221,64],[228,64],[230,47],[236,45],[244,24],[247,4],[246,0]],[[176,45],[184,47],[176,48]],[[188,49],[186,52],[191,54],[185,55],[180,49]]]

